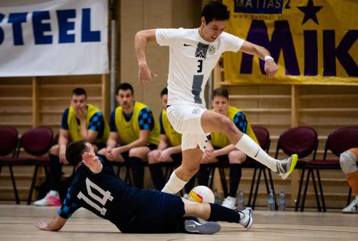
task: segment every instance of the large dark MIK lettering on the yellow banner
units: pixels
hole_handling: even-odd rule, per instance
[[[335,30],[323,30],[323,65],[324,76],[336,76],[336,59],[341,63],[348,76],[358,76],[358,67],[349,50],[358,39],[358,30],[348,30],[341,41],[336,44]],[[286,75],[299,75],[299,65],[293,37],[288,21],[275,21],[275,29],[268,40],[267,27],[264,21],[253,20],[247,41],[267,48],[277,62],[282,51]],[[317,76],[318,74],[318,41],[316,30],[304,30],[304,75]],[[337,46],[337,47],[336,47]],[[242,54],[240,66],[241,74],[251,74],[253,56]],[[260,60],[260,68],[264,74],[264,61]]]

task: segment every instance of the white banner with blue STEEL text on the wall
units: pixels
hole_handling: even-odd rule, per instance
[[[0,1],[0,76],[107,74],[107,0]]]

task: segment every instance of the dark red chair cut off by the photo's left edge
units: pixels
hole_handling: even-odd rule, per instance
[[[15,158],[17,145],[18,145],[18,132],[15,127],[0,127],[0,174],[3,166],[8,166],[14,189],[16,203],[19,204],[19,193],[17,192],[17,185],[14,178],[12,166],[17,165]],[[9,156],[12,154],[11,156]]]

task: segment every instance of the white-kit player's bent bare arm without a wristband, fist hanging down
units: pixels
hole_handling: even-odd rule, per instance
[[[147,50],[147,42],[156,41],[156,30],[142,30],[136,33],[134,37],[134,49],[136,50],[136,56],[138,61],[138,78],[139,83],[148,83],[151,78],[156,76],[151,72],[147,64],[147,56],[145,50]]]

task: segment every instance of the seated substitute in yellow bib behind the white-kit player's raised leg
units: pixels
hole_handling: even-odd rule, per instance
[[[251,139],[258,143],[255,133],[247,121],[246,116],[240,109],[229,105],[229,92],[224,88],[218,88],[213,91],[213,99],[211,100],[213,111],[227,116],[235,124],[240,132],[247,134]],[[222,206],[229,209],[235,208],[236,193],[241,179],[241,164],[246,160],[246,155],[235,148],[230,140],[220,132],[210,134],[211,140],[202,156],[202,164],[198,173],[199,182],[206,182],[209,179],[209,171],[207,171],[206,163],[217,163],[218,161],[227,161],[229,159],[229,196],[224,199]],[[204,164],[205,163],[205,164]],[[201,184],[201,183],[200,183]]]

